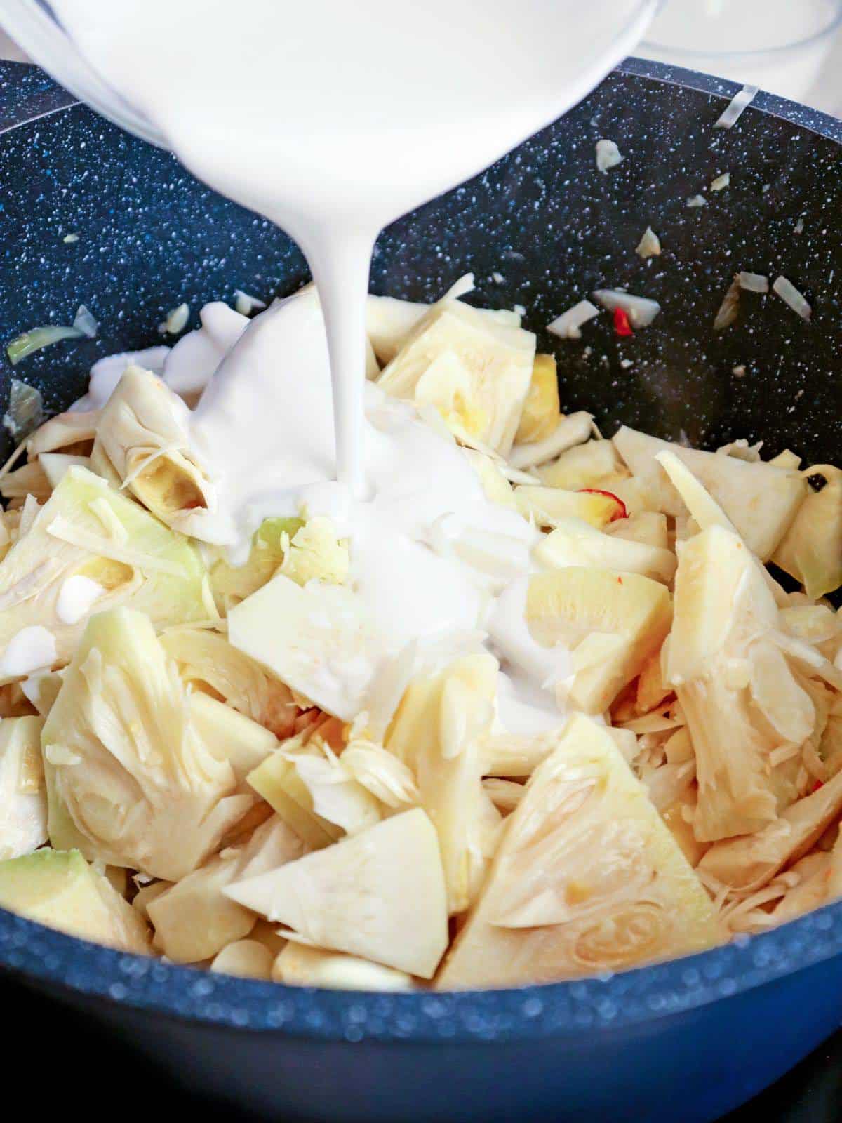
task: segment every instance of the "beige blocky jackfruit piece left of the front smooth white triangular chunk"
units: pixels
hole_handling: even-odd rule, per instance
[[[222,891],[244,877],[294,861],[304,852],[301,839],[286,823],[277,816],[268,819],[245,846],[223,850],[147,904],[155,946],[175,964],[196,964],[244,939],[256,916]]]

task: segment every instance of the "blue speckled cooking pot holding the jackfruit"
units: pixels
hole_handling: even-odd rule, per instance
[[[630,60],[565,120],[395,223],[379,243],[375,290],[432,299],[473,270],[478,302],[523,303],[540,330],[592,289],[628,285],[656,296],[661,316],[630,340],[602,318],[582,343],[556,341],[565,407],[594,409],[606,433],[626,421],[707,445],[762,437],[770,453],[839,462],[842,126],[760,95],[734,129],[713,131],[734,91]],[[67,321],[80,302],[102,322],[97,340],[60,344],[16,369],[53,409],[83,391],[93,359],[158,343],[155,326],[174,304],[187,301],[195,318],[235,287],[266,298],[306,276],[282,234],[40,71],[0,66],[0,339]],[[607,176],[594,165],[600,136],[625,156]],[[688,210],[687,197],[725,171],[731,186]],[[648,225],[663,244],[651,265],[633,253]],[[79,241],[65,244],[67,232]],[[813,322],[776,296],[748,298],[740,325],[715,337],[739,268],[784,273],[812,301]],[[4,354],[0,363],[4,395]],[[482,994],[223,978],[3,912],[0,966],[191,1086],[274,1119],[694,1123],[747,1099],[842,1022],[842,904],[663,966]]]

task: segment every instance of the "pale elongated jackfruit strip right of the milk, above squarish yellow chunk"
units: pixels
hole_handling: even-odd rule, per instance
[[[671,550],[614,538],[584,519],[560,519],[556,529],[536,546],[533,557],[551,569],[570,565],[619,569],[665,584],[672,579],[676,572],[676,557]]]

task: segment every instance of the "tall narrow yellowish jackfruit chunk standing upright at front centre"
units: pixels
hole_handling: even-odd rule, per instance
[[[492,728],[496,690],[496,659],[456,659],[410,684],[385,741],[414,774],[421,806],[438,832],[451,914],[467,909],[485,868],[482,742]]]

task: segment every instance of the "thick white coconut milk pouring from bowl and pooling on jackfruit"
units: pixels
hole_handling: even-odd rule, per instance
[[[225,356],[192,421],[220,493],[203,537],[242,556],[265,515],[302,503],[329,514],[351,540],[355,590],[388,654],[479,629],[511,669],[501,712],[524,730],[557,721],[555,702],[541,718],[534,700],[562,668],[529,637],[515,587],[534,532],[486,500],[456,444],[412,407],[364,393],[368,270],[384,226],[584,97],[656,0],[53,7],[186,167],[296,239],[317,283],[318,299],[292,298],[247,327],[209,311],[167,359],[167,381],[198,371],[201,382],[202,365]],[[478,577],[481,541],[520,562]]]

